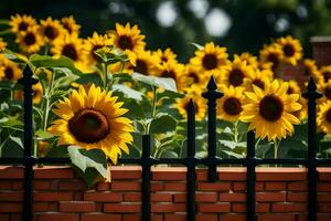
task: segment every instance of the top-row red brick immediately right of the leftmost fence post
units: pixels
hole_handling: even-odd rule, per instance
[[[71,167],[47,166],[34,169],[34,179],[72,179],[74,170]]]

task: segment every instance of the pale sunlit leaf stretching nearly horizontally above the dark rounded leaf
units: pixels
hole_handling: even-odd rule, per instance
[[[173,78],[169,77],[157,77],[157,76],[147,76],[139,73],[134,73],[132,78],[138,82],[142,82],[150,86],[160,87],[171,92],[177,92],[175,82]]]

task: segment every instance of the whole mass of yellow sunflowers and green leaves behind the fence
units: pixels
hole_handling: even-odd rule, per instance
[[[307,101],[312,77],[318,101],[319,157],[331,154],[331,66],[303,57],[300,42],[284,36],[263,45],[258,56],[229,56],[214,42],[191,43],[186,63],[171,49],[148,49],[137,25],[116,23],[106,33],[79,36],[73,17],[36,21],[15,14],[0,40],[0,157],[23,156],[23,86],[26,65],[33,85],[35,157],[70,157],[90,186],[110,180],[119,156],[140,157],[141,135],[152,136],[152,157],[185,157],[186,107],[193,101],[196,157],[207,156],[206,99],[214,77],[217,99],[217,156],[246,156],[246,134],[256,133],[260,158],[307,155]],[[147,36],[148,38],[148,36]],[[10,42],[10,43],[9,43]],[[300,66],[285,81],[286,66]],[[298,80],[298,81],[297,81]]]

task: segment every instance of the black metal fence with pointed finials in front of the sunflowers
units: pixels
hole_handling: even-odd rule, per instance
[[[33,123],[32,123],[32,85],[36,80],[32,77],[29,66],[23,72],[21,83],[24,85],[24,157],[23,158],[0,158],[0,164],[21,164],[24,166],[24,202],[23,202],[23,221],[32,220],[33,203],[33,166],[36,164],[70,164],[68,158],[36,158],[32,156],[33,144]],[[195,109],[194,103],[190,101],[188,105],[188,156],[181,159],[161,158],[154,159],[150,156],[150,136],[142,135],[142,156],[136,159],[119,159],[120,164],[135,164],[142,167],[142,203],[141,219],[150,220],[151,201],[151,166],[159,164],[184,165],[186,172],[186,220],[194,221],[196,214],[195,201],[195,166],[205,165],[209,167],[209,181],[214,182],[217,179],[217,165],[243,165],[247,168],[247,221],[256,220],[256,200],[255,200],[255,168],[258,165],[303,165],[308,168],[308,220],[317,221],[317,181],[319,165],[331,165],[331,159],[317,159],[317,123],[316,123],[316,99],[322,95],[317,92],[316,84],[311,78],[303,97],[308,99],[308,156],[302,159],[258,159],[255,157],[255,133],[247,133],[247,155],[242,159],[222,159],[216,156],[216,99],[223,94],[217,91],[216,83],[211,77],[207,91],[203,93],[206,98],[207,113],[207,145],[209,156],[206,158],[195,158]],[[216,211],[215,211],[216,212]]]

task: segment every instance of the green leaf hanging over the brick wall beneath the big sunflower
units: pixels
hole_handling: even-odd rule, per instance
[[[88,187],[95,183],[94,179],[88,179],[90,172],[100,175],[104,179],[108,178],[107,158],[99,149],[81,149],[77,146],[70,146],[67,148],[72,164],[83,172],[83,178],[87,181]],[[95,169],[90,171],[90,168]],[[93,176],[98,177],[98,176]]]

